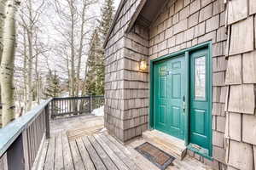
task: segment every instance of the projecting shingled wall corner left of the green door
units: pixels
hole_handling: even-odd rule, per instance
[[[105,50],[104,122],[109,133],[122,142],[148,128],[148,73],[138,71],[139,59],[148,54],[145,48],[148,41],[143,40],[148,37],[148,31],[135,27],[125,35],[140,3],[139,0],[125,2]]]

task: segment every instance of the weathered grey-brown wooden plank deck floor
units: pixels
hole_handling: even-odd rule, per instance
[[[87,123],[82,123],[83,120]],[[96,123],[92,123],[96,122]],[[102,123],[101,123],[102,122]],[[93,125],[94,124],[94,125]],[[130,144],[120,144],[116,139],[102,132],[102,117],[76,117],[67,123],[52,122],[55,129],[51,138],[44,143],[38,162],[39,170],[159,170],[141,156],[134,148],[144,139]],[[61,126],[63,127],[60,131]],[[67,128],[71,127],[71,128]],[[210,169],[200,161],[186,156],[183,161],[175,160],[168,170]]]

